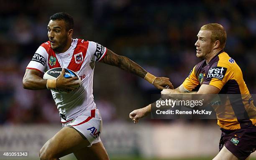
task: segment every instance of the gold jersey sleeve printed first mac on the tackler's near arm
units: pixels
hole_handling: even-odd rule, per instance
[[[222,89],[226,82],[234,78],[234,70],[227,63],[218,63],[217,66],[211,67],[205,81],[202,84],[209,84]]]

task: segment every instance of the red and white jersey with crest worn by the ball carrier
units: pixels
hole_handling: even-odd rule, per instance
[[[62,114],[62,122],[94,109],[96,104],[92,94],[93,72],[95,61],[100,61],[107,53],[107,48],[99,43],[73,39],[70,48],[64,53],[57,53],[51,48],[50,41],[41,44],[34,54],[27,69],[40,72],[56,67],[71,69],[81,78],[79,89],[69,94],[61,94],[51,90],[51,94]]]

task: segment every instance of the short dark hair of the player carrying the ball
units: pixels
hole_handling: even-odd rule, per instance
[[[68,13],[64,13],[64,12],[55,13],[50,17],[50,20],[64,20],[67,24],[66,25],[67,30],[74,29],[74,20],[72,16],[69,15]]]

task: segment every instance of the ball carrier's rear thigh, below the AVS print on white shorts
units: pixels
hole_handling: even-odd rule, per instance
[[[85,160],[85,158],[88,160],[109,160],[108,153],[101,141],[93,144],[92,147],[76,150],[74,155],[77,160]]]

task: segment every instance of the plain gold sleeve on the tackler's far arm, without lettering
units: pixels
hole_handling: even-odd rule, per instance
[[[195,67],[190,71],[189,76],[183,82],[184,88],[188,91],[192,91],[198,85],[200,85],[199,81],[197,80],[197,76],[195,75]]]

